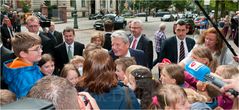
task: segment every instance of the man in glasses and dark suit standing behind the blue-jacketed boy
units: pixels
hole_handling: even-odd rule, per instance
[[[35,33],[37,35],[40,36],[41,38],[41,44],[43,46],[42,50],[43,50],[43,54],[44,53],[51,53],[53,52],[54,49],[54,44],[51,41],[51,39],[49,39],[44,32],[40,32],[39,28],[40,28],[40,23],[39,23],[39,19],[36,16],[29,16],[26,19],[26,28],[28,29],[29,32]]]

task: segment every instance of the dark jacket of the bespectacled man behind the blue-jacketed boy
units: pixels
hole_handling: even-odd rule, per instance
[[[48,38],[44,32],[40,32],[39,36],[41,38],[41,45],[43,46],[42,53],[43,54],[44,53],[53,54],[54,43],[52,42],[52,40],[50,38]]]

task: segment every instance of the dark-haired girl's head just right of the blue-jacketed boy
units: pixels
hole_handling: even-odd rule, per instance
[[[41,72],[45,76],[52,75],[55,70],[55,63],[50,54],[43,54],[38,66],[40,66]]]

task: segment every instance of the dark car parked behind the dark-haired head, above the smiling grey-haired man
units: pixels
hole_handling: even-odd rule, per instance
[[[127,21],[122,16],[116,16],[116,14],[106,14],[103,19],[98,20],[93,25],[96,30],[104,30],[104,22],[106,20],[112,20],[114,23],[114,30],[124,29],[127,25]]]

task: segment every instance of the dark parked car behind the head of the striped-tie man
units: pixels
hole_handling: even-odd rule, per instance
[[[194,31],[195,31],[195,24],[194,24],[193,20],[192,20],[192,19],[178,19],[177,22],[178,22],[179,20],[184,20],[184,21],[186,22],[186,24],[187,24],[187,29],[189,29],[189,31],[187,32],[187,34],[188,34],[188,35],[192,35],[192,34],[194,33]],[[174,34],[175,34],[176,25],[177,25],[176,23],[174,23],[174,25],[173,25],[173,32],[174,32]]]

